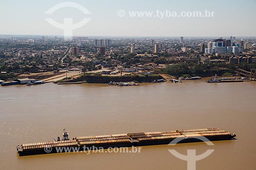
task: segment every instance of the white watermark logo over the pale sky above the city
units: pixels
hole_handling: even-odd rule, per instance
[[[49,10],[47,10],[45,12],[45,14],[52,14],[53,12],[55,12],[56,10],[59,10],[61,8],[65,8],[65,7],[72,7],[72,8],[76,8],[79,9],[80,11],[82,11],[84,14],[91,14],[91,12],[84,8],[83,6],[73,3],[73,2],[65,2],[65,3],[59,3],[55,6],[53,6],[52,8],[50,8]],[[73,30],[78,29],[84,25],[86,25],[86,23],[88,23],[91,18],[83,18],[83,20],[81,20],[78,23],[73,23],[73,18],[64,18],[63,23],[58,23],[55,20],[53,20],[52,18],[45,18],[52,26],[62,29],[64,31],[64,37],[65,39],[70,39],[73,37]]]

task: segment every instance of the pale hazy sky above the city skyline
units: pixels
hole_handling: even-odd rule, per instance
[[[52,14],[52,6],[74,2],[88,9],[85,15],[75,8],[62,8]],[[78,36],[256,36],[256,0],[1,0],[0,34],[63,35],[63,30],[50,25],[45,18],[63,23],[63,18],[79,22],[92,18],[73,31]],[[119,17],[118,10],[125,16]],[[129,11],[214,11],[214,17],[130,17]],[[154,13],[155,14],[155,13]]]

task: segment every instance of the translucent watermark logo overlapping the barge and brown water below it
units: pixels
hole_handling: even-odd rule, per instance
[[[207,139],[204,136],[191,137],[190,139],[198,139],[205,142],[207,145],[214,145],[214,143],[209,141],[209,139]],[[170,142],[168,145],[175,145],[179,143],[181,140],[184,140],[184,138],[176,138],[172,142]],[[202,160],[208,157],[212,152],[214,152],[214,150],[207,150],[201,155],[196,155],[196,150],[187,150],[187,155],[182,155],[176,150],[168,150],[168,151],[174,156],[176,156],[177,158],[187,161],[187,170],[196,170],[196,161]]]

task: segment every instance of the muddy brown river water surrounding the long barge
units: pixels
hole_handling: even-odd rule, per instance
[[[197,155],[197,169],[256,168],[256,82],[0,87],[0,169],[187,169],[168,152]],[[140,153],[61,153],[19,157],[16,145],[129,132],[221,128],[237,140],[142,147]]]

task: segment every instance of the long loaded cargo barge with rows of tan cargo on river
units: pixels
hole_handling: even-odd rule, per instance
[[[174,139],[181,139],[179,143],[202,142],[200,137],[206,137],[210,141],[230,140],[236,137],[219,128],[189,129],[160,132],[124,133],[112,135],[80,136],[72,140],[69,134],[63,132],[63,139],[58,137],[55,141],[27,143],[17,146],[19,156],[61,153],[60,148],[78,148],[77,151],[93,149],[108,149],[121,147],[139,147],[145,145],[168,144]]]

